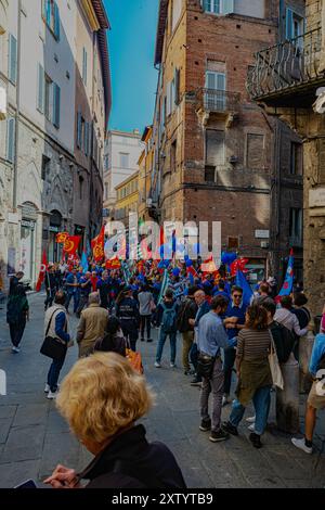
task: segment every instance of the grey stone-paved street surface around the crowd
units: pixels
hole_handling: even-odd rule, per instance
[[[90,459],[56,412],[55,404],[44,398],[49,361],[39,354],[43,295],[30,295],[29,303],[31,320],[18,355],[11,353],[5,310],[0,310],[0,368],[8,375],[8,395],[0,396],[0,487],[12,487],[29,477],[41,486],[56,463],[80,469]],[[76,324],[72,318],[73,330]],[[317,450],[312,456],[294,448],[289,436],[272,428],[262,438],[264,447],[255,450],[245,421],[238,437],[211,444],[207,434],[198,430],[199,391],[190,386],[190,378],[183,375],[181,368],[169,368],[169,346],[165,347],[161,369],[154,368],[156,341],[140,346],[146,377],[157,394],[157,405],[143,423],[151,441],[162,441],[172,449],[188,487],[325,486],[325,454],[321,451],[325,439],[324,412],[317,420]],[[76,359],[74,347],[69,349],[63,375]],[[224,418],[229,411],[227,407]]]

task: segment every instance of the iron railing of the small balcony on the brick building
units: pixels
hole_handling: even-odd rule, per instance
[[[225,90],[199,89],[197,100],[205,111],[217,113],[236,112],[239,105],[239,93]]]

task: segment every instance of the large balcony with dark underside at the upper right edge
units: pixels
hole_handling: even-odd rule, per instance
[[[259,51],[248,73],[249,94],[268,106],[310,107],[325,85],[321,53],[321,28]]]

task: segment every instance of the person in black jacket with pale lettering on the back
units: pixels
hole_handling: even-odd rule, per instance
[[[121,291],[116,299],[116,316],[119,318],[126,340],[132,350],[136,350],[140,314],[138,303],[130,285]]]

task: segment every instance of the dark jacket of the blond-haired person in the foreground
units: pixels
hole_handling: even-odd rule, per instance
[[[172,452],[148,443],[143,425],[117,436],[79,475],[87,488],[186,488]]]

